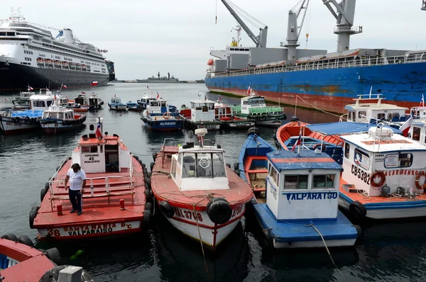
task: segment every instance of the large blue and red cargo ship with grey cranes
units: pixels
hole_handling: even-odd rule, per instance
[[[381,94],[385,103],[417,106],[426,90],[426,50],[350,49],[350,36],[362,33],[354,27],[356,0],[324,1],[337,19],[337,52],[297,49],[310,1],[300,1],[288,14],[287,43],[266,47],[267,26],[258,36],[226,0],[239,22],[238,37],[226,50],[211,50],[217,60],[208,61],[205,85],[212,93],[246,95],[249,86],[269,101],[345,113],[344,106],[360,94]],[[297,23],[299,22],[299,24]],[[239,33],[245,30],[256,47],[244,47]],[[308,34],[307,34],[308,36]]]

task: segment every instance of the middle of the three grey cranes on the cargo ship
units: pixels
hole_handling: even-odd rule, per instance
[[[300,31],[302,30],[309,4],[310,0],[301,0],[293,9],[288,11],[287,44],[285,47],[288,48],[287,60],[289,61],[294,62],[296,60],[296,48],[300,46],[297,40],[299,40]],[[302,13],[302,10],[305,11]],[[297,19],[300,15],[302,15],[300,26],[297,26]]]

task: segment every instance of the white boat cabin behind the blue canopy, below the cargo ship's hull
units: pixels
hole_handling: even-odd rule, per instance
[[[384,97],[381,94],[374,94],[373,96],[358,95],[358,98],[354,99],[354,104],[344,107],[348,111],[347,121],[354,123],[380,123],[386,120],[395,123],[406,120],[405,112],[409,110],[408,108],[381,103],[383,99]],[[367,103],[367,101],[371,100],[377,100],[377,102]]]

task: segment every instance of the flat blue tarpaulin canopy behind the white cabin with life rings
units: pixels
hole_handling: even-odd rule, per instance
[[[375,128],[376,124],[368,123],[318,123],[306,125],[311,131],[319,132],[324,135],[339,135],[345,133],[356,133],[356,132],[368,132],[368,128]],[[385,128],[391,128],[388,125],[384,125]],[[391,128],[393,133],[402,134],[399,129]]]

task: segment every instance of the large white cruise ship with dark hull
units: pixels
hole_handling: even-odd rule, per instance
[[[11,16],[0,26],[0,90],[98,86],[109,82],[103,53],[94,45],[82,43],[64,28],[52,33]]]

